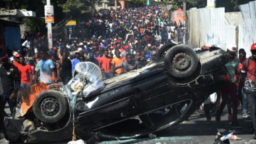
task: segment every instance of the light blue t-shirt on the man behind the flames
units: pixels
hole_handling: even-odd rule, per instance
[[[41,83],[52,83],[52,72],[51,68],[54,68],[53,61],[51,59],[39,60],[38,69],[40,70],[40,82]]]

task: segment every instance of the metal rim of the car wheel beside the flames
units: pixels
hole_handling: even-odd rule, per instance
[[[41,113],[44,116],[54,116],[58,114],[59,108],[59,101],[51,97],[45,98],[40,105]]]

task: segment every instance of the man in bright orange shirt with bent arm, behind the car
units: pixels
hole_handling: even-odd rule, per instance
[[[120,63],[125,61],[125,59],[123,57],[120,57],[120,52],[118,50],[115,51],[115,55],[116,55],[116,57],[114,57],[111,61],[111,64],[112,64],[111,77],[117,76],[124,71],[123,68],[120,68],[120,69],[117,69],[116,71],[114,71],[115,67],[119,66]]]

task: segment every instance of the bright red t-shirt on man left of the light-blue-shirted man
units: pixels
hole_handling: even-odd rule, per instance
[[[21,75],[21,82],[30,84],[31,67],[28,64],[26,64],[25,66],[20,65],[18,67],[18,69],[19,69],[19,73]]]

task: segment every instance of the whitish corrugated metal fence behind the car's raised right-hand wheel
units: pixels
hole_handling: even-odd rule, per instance
[[[225,8],[192,9],[187,11],[189,45],[201,47],[215,45],[226,50],[236,44],[236,26],[225,25]]]

